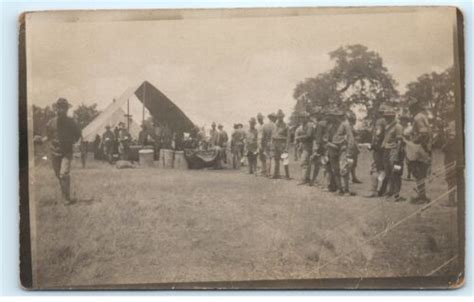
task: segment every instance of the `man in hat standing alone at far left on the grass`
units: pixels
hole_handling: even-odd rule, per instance
[[[53,170],[59,180],[64,203],[69,205],[71,200],[71,161],[72,146],[81,137],[81,130],[76,122],[67,116],[69,103],[64,98],[56,102],[56,117],[46,126],[46,139],[51,145],[51,160]]]

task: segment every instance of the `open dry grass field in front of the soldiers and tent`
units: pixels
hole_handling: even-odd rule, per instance
[[[442,162],[435,158],[436,171]],[[40,288],[68,285],[399,277],[453,271],[457,209],[366,199],[370,159],[339,197],[292,181],[236,170],[118,170],[100,162],[72,170],[76,204],[57,203],[48,163],[36,167],[34,275]],[[292,163],[292,176],[299,167]],[[405,196],[413,182],[404,182]],[[447,190],[428,185],[432,199]],[[386,232],[383,232],[386,230]],[[375,236],[375,237],[374,237]]]

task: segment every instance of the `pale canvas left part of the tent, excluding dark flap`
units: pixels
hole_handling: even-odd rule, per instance
[[[113,101],[89,125],[82,130],[82,137],[88,142],[94,141],[96,135],[102,137],[108,125],[114,129],[120,122],[127,125],[127,113],[130,116],[129,131],[133,138],[138,137],[143,117],[146,119],[150,112],[135,95],[137,87],[127,89],[122,96]]]

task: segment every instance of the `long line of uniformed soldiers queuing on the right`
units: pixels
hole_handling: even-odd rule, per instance
[[[429,203],[426,195],[426,179],[429,176],[432,157],[432,126],[428,109],[416,99],[409,102],[409,114],[397,118],[396,111],[381,105],[372,128],[372,152],[370,194],[367,198],[385,196],[387,200],[404,201],[400,195],[405,164],[409,175],[416,181],[415,204]],[[284,113],[269,114],[265,122],[261,113],[251,118],[247,133],[242,135],[245,156],[249,162],[249,173],[256,173],[257,159],[260,161],[259,175],[280,178],[283,161],[285,179],[291,179],[288,169],[290,129],[284,122]],[[324,110],[316,108],[311,113],[296,114],[299,125],[294,133],[295,152],[301,162],[301,181],[298,185],[320,186],[318,176],[327,177],[324,190],[339,195],[355,195],[350,182],[361,183],[356,176],[359,147],[355,135],[356,116],[351,110],[339,108]],[[258,124],[257,124],[258,123]],[[238,134],[236,130],[234,135]],[[445,166],[455,164],[454,122],[446,130]],[[236,135],[237,136],[237,135]],[[239,135],[240,137],[240,135]],[[406,161],[406,163],[405,163]],[[272,170],[273,168],[273,170]],[[448,189],[456,184],[455,173],[446,171]],[[450,204],[455,203],[455,192],[449,194]]]

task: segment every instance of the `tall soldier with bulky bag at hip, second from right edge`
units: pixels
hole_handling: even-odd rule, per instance
[[[412,203],[429,203],[426,196],[425,179],[431,165],[431,125],[428,114],[423,105],[412,98],[409,109],[413,117],[413,130],[411,142],[407,142],[406,152],[408,164],[416,181],[417,196],[411,199]]]

